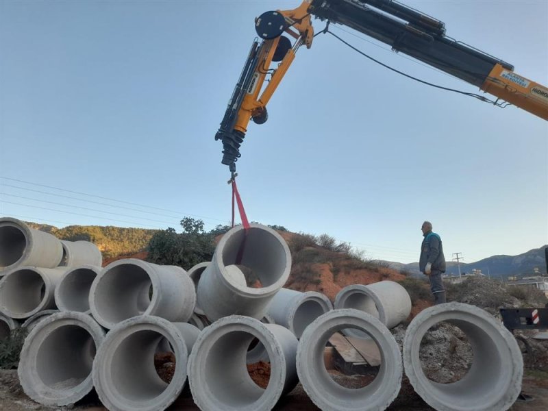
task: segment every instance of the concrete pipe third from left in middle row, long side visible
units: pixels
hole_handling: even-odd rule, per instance
[[[184,323],[196,304],[194,285],[182,268],[133,258],[105,266],[89,298],[92,315],[105,328],[138,315]]]

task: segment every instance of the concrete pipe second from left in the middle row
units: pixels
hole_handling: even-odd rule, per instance
[[[71,266],[55,287],[55,304],[61,311],[90,313],[90,288],[101,267]]]

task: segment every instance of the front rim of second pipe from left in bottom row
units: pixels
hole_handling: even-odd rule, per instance
[[[147,401],[132,401],[116,389],[110,366],[119,351],[117,347],[127,338],[142,331],[155,332],[168,340],[175,354],[175,373],[160,395]],[[179,397],[187,379],[187,365],[188,349],[182,333],[175,325],[156,316],[135,316],[121,321],[108,332],[101,347],[97,349],[92,379],[101,402],[110,410],[159,411],[169,407]]]

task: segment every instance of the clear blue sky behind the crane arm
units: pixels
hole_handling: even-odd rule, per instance
[[[548,1],[406,3],[548,85]],[[186,215],[208,229],[229,223],[214,134],[253,19],[297,5],[1,0],[0,215],[58,227],[179,229]],[[401,71],[477,92],[332,30]],[[238,162],[252,221],[327,233],[399,262],[418,260],[425,219],[447,260],[548,242],[548,123],[532,114],[429,88],[319,35],[297,53],[269,117],[250,125]]]

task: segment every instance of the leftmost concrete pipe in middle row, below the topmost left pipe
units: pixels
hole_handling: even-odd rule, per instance
[[[0,312],[12,319],[26,319],[42,310],[55,308],[55,286],[66,267],[42,269],[19,267],[0,279]]]

